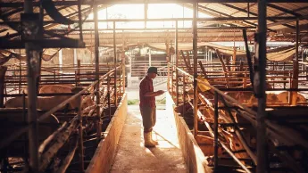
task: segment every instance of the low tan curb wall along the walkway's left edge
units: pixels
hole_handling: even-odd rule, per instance
[[[118,105],[117,111],[114,112],[112,121],[105,130],[107,134],[96,149],[86,173],[104,173],[108,172],[112,167],[112,160],[115,155],[116,147],[119,142],[121,131],[127,116],[128,103],[127,95],[124,94],[121,103]]]

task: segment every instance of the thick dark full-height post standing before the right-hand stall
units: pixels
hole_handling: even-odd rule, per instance
[[[266,173],[267,170],[267,140],[265,133],[264,119],[266,116],[266,95],[265,95],[265,80],[266,80],[266,0],[258,0],[258,72],[259,86],[258,89],[258,113],[257,113],[257,173]],[[257,84],[256,84],[257,85]]]

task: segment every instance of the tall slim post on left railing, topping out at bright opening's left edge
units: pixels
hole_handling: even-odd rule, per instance
[[[98,52],[98,46],[99,46],[99,35],[98,35],[98,14],[97,14],[97,4],[93,6],[93,14],[94,14],[94,26],[95,26],[95,56],[96,56],[96,80],[98,82],[96,83],[96,105],[100,104],[100,98],[99,98],[99,52]],[[100,141],[101,133],[102,133],[102,121],[101,121],[101,113],[100,113],[100,107],[96,107],[96,139],[97,144]]]

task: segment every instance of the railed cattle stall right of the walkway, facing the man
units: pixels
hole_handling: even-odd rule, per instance
[[[168,88],[188,168],[195,172],[255,172],[258,99],[249,64],[231,62],[228,55],[216,51],[213,62],[196,64],[194,76],[189,53],[180,53],[168,64]],[[304,135],[308,119],[304,113],[308,109],[307,70],[294,68],[294,63],[268,61],[266,65],[264,138],[272,172],[308,170],[308,141]]]

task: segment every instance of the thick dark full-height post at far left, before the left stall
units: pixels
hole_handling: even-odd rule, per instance
[[[33,14],[32,0],[24,1],[24,29],[29,29],[27,33],[23,33],[23,39],[31,39],[41,37],[41,27],[30,27],[33,26],[35,21],[27,19],[28,15]],[[33,20],[33,19],[32,19]],[[22,21],[22,19],[21,19]],[[37,21],[39,19],[37,18]],[[37,32],[38,29],[38,32]],[[39,75],[37,67],[41,58],[42,49],[39,44],[25,43],[26,54],[27,54],[27,79],[28,79],[28,123],[29,128],[29,172],[38,172],[38,139],[37,139],[37,85],[36,78]]]

